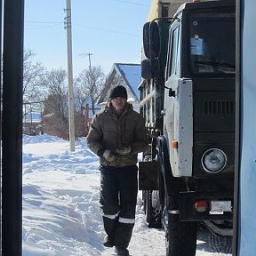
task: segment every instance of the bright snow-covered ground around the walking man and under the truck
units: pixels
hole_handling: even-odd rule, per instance
[[[23,256],[115,255],[105,249],[98,157],[49,135],[23,138]],[[231,255],[231,239],[199,230],[196,256]],[[164,230],[148,228],[138,196],[132,256],[164,256]]]

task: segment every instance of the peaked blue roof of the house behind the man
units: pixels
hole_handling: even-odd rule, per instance
[[[139,101],[140,92],[138,87],[140,85],[140,64],[114,63],[97,103],[100,104],[108,101],[106,97],[108,97],[107,95],[110,91],[110,86],[115,74],[123,77],[126,86],[128,86],[129,90],[132,92],[133,98]]]

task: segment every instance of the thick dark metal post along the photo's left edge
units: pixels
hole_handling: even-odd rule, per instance
[[[2,254],[20,256],[24,0],[4,1]]]

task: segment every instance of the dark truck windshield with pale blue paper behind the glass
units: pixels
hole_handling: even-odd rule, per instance
[[[235,17],[235,8],[190,12],[189,69],[193,74],[235,74]]]

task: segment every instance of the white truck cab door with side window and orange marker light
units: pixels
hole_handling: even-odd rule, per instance
[[[192,176],[193,148],[192,80],[180,77],[180,31],[180,21],[176,20],[170,29],[165,74],[164,136],[168,141],[172,175],[189,177]]]

